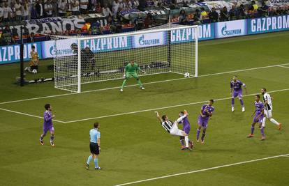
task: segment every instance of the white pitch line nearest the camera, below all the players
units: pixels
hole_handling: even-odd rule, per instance
[[[228,167],[228,166],[235,166],[235,165],[239,165],[239,164],[247,164],[247,163],[251,163],[251,162],[259,162],[259,161],[262,161],[262,160],[269,160],[269,159],[273,159],[273,158],[277,158],[277,157],[287,157],[288,155],[289,154],[286,154],[286,155],[275,155],[275,156],[272,156],[272,157],[264,157],[264,158],[260,158],[260,159],[249,160],[249,161],[244,161],[244,162],[237,162],[237,163],[233,163],[233,164],[224,164],[224,165],[221,165],[221,166],[214,166],[214,167],[207,168],[207,169],[199,169],[199,170],[195,170],[195,171],[188,171],[188,172],[184,172],[184,173],[175,173],[175,174],[170,174],[170,175],[167,175],[167,176],[160,176],[160,177],[156,177],[156,178],[138,180],[138,181],[129,182],[129,183],[122,183],[122,184],[115,185],[115,186],[131,185],[131,184],[143,183],[143,182],[147,182],[147,181],[151,181],[151,180],[159,180],[159,179],[163,179],[163,178],[181,176],[181,175],[185,175],[185,174],[189,174],[189,173],[199,173],[199,172],[203,172],[203,171],[211,171],[211,170],[214,170],[214,169],[221,169],[223,167]]]

